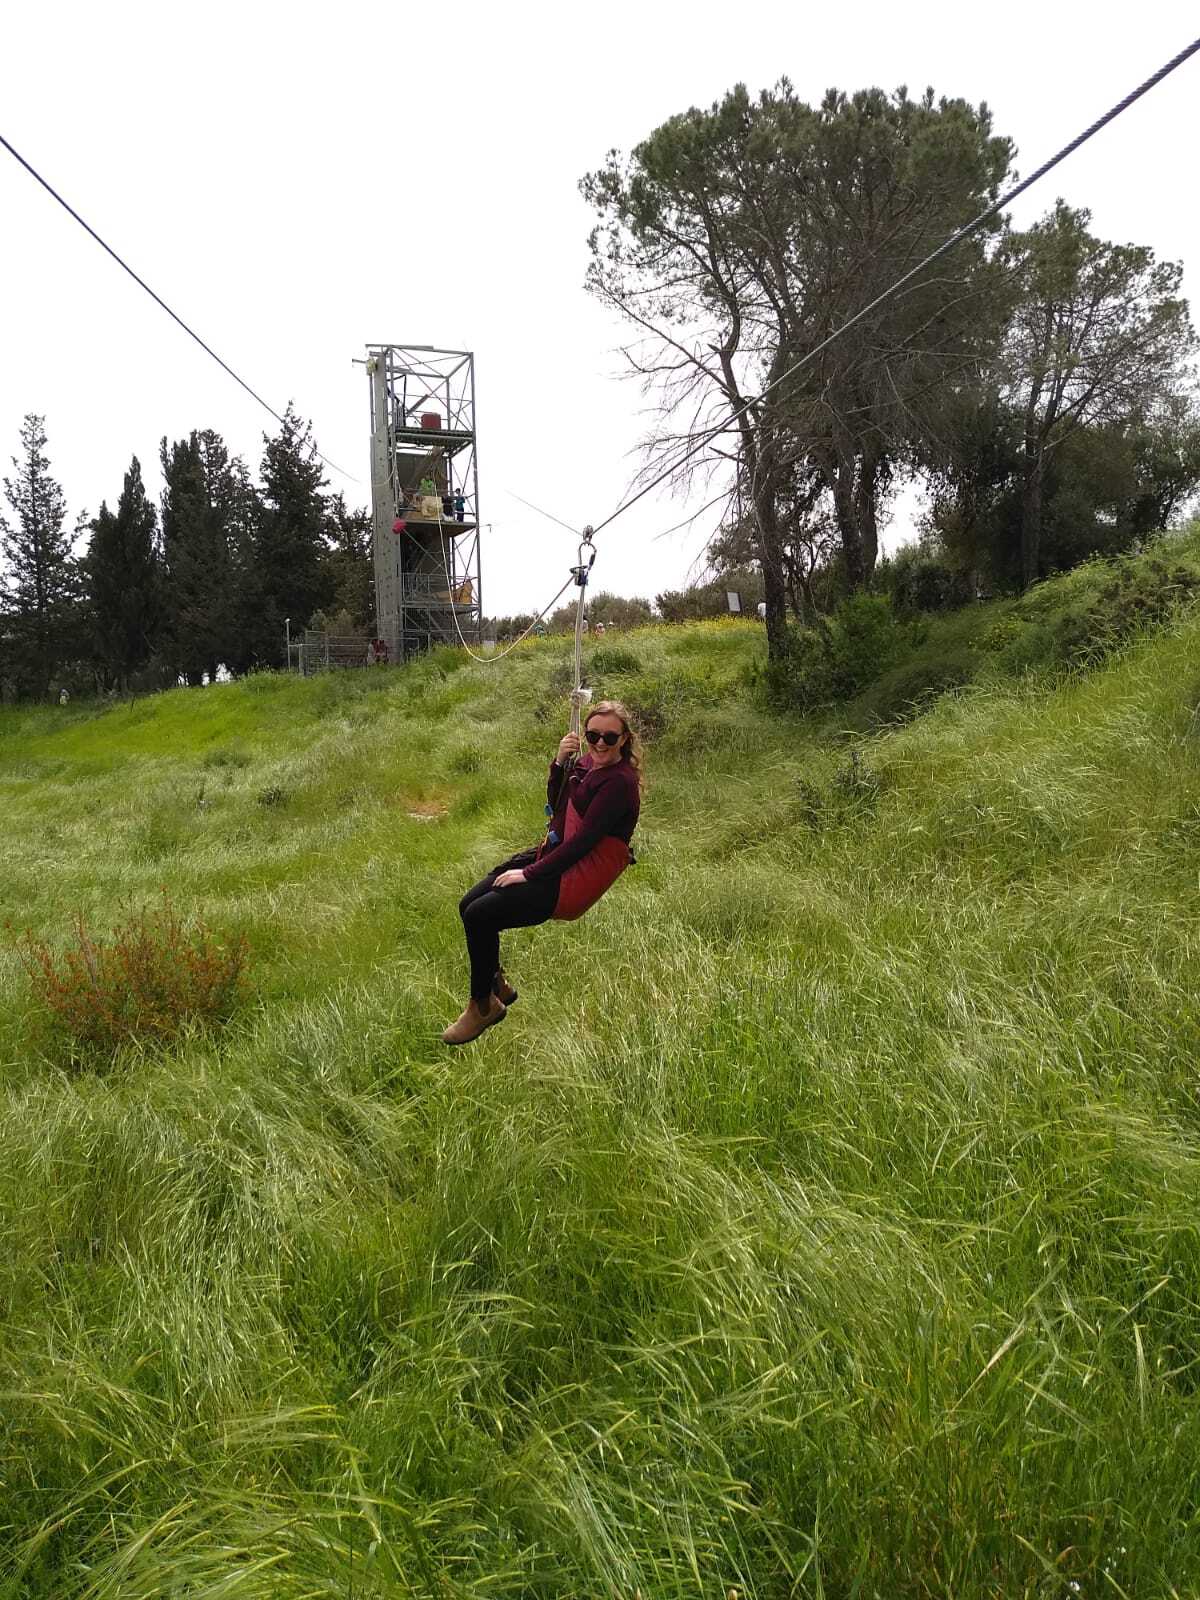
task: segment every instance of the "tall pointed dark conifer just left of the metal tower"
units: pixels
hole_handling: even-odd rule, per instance
[[[256,653],[283,666],[285,619],[302,629],[334,592],[328,566],[325,477],[310,426],[293,411],[274,438],[264,435],[262,514],[256,539]]]

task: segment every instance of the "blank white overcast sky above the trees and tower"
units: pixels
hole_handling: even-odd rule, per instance
[[[986,99],[1032,171],[1197,34],[1194,3],[568,6],[173,0],[8,5],[0,131],[277,410],[294,398],[350,504],[368,499],[376,341],[474,349],[483,602],[541,606],[563,520],[618,504],[645,427],[627,334],[582,290],[581,174],[738,80],[805,99],[931,83]],[[1182,259],[1195,294],[1200,58],[1021,202]],[[274,422],[0,149],[0,462],[46,414],[70,515],[115,504],[138,454],[218,429],[258,467]],[[904,502],[902,502],[904,504]],[[909,502],[910,504],[910,502]],[[648,496],[600,538],[597,589],[686,581],[698,536]],[[486,533],[491,523],[491,533]],[[902,514],[888,542],[907,531]],[[698,528],[710,531],[709,522]]]

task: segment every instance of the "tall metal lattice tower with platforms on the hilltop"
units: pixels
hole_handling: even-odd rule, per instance
[[[373,344],[366,376],[378,637],[392,661],[458,645],[459,634],[477,645],[475,357]]]

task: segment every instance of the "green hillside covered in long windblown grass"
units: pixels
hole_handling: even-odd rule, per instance
[[[760,650],[597,648],[640,862],[459,1053],[562,643],[0,715],[14,922],[253,947],[86,1069],[5,947],[0,1597],[1200,1594],[1200,619],[853,741]]]

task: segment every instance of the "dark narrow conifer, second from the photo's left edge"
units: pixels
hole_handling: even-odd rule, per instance
[[[163,598],[158,517],[146,496],[136,456],[125,474],[117,514],[101,502],[90,526],[83,568],[98,664],[109,683],[128,688],[130,677],[154,653]]]

